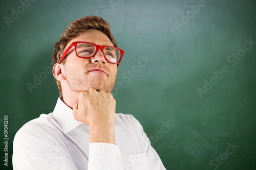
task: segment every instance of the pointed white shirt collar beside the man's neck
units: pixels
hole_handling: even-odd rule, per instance
[[[73,117],[73,110],[60,98],[58,98],[56,106],[53,110],[53,117],[65,134],[83,124]]]

